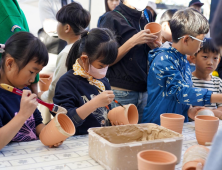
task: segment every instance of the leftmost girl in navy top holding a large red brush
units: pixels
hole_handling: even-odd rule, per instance
[[[48,63],[44,44],[28,32],[1,44],[0,83],[23,89],[22,97],[0,88],[0,150],[10,141],[36,140],[44,128],[36,94],[26,87]],[[58,146],[59,144],[56,144]]]

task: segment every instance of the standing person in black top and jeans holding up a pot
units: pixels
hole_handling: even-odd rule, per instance
[[[124,0],[113,11],[102,16],[99,24],[101,28],[114,31],[119,44],[117,59],[109,66],[106,76],[117,101],[137,106],[139,123],[147,101],[147,55],[151,49],[160,46],[155,41],[157,37],[144,30],[148,23],[143,12],[147,3],[148,0]],[[147,14],[152,22],[150,11]],[[117,105],[113,102],[111,106]]]

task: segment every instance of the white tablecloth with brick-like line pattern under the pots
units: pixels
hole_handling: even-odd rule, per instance
[[[194,122],[184,124],[183,136],[182,156],[187,148],[197,144]],[[181,170],[182,160],[176,170]],[[101,169],[104,168],[88,155],[88,135],[70,137],[59,148],[48,148],[37,140],[11,143],[0,151],[0,170]]]

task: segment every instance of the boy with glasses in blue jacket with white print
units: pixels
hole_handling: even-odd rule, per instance
[[[193,56],[209,31],[207,19],[198,11],[185,9],[176,12],[170,21],[173,44],[170,48],[150,51],[147,79],[148,101],[143,123],[160,124],[162,113],[177,113],[194,119],[201,107],[222,103],[222,94],[192,87],[192,74],[186,54]]]

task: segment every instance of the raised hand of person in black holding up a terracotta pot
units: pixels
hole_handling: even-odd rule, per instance
[[[146,44],[146,43],[153,43],[157,39],[156,35],[150,34],[150,30],[142,30],[135,34],[132,38],[131,41],[135,45],[139,44]]]

